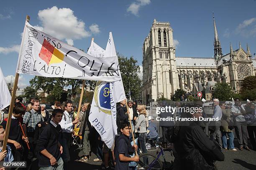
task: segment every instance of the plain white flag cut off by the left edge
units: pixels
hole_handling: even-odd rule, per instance
[[[0,67],[0,110],[10,105],[11,96]]]

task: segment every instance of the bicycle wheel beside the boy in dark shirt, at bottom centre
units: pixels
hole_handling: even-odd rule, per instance
[[[139,155],[138,170],[162,170],[163,163],[156,156],[148,153]]]

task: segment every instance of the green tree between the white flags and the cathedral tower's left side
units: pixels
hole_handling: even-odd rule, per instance
[[[129,87],[131,87],[131,98],[138,99],[141,94],[141,80],[138,77],[138,72],[140,72],[138,61],[133,56],[127,58],[120,54],[117,55],[125,94],[128,94]]]

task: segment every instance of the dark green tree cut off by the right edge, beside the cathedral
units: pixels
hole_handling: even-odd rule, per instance
[[[256,76],[248,76],[242,80],[240,94],[242,100],[256,99]]]

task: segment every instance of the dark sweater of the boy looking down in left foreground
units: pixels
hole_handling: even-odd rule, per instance
[[[61,126],[57,125],[55,128],[51,122],[46,125],[43,132],[37,140],[36,150],[38,151],[37,158],[39,160],[39,167],[51,166],[50,159],[42,155],[40,152],[46,149],[58,161],[61,153],[59,151],[58,138],[61,134]]]

